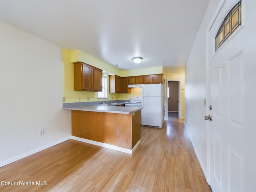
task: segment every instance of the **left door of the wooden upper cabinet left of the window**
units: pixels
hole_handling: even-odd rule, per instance
[[[94,68],[82,63],[82,90],[94,89]]]

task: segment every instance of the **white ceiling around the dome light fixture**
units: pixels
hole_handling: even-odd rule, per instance
[[[209,0],[0,0],[0,20],[121,70],[184,69]],[[140,64],[132,57],[143,58]],[[116,66],[118,65],[118,66]]]

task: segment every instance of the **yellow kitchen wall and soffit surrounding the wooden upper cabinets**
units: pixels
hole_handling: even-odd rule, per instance
[[[85,62],[94,67],[100,68],[104,71],[107,71],[112,74],[116,74],[121,77],[126,76],[138,76],[138,75],[147,75],[147,74],[162,74],[164,73],[163,67],[152,67],[136,70],[124,70],[121,71],[118,68],[115,68],[109,64],[106,64],[80,50],[69,51],[62,49],[62,61],[63,61],[63,97],[66,98],[66,103],[78,102],[78,97],[81,98],[81,102],[89,101],[104,101],[107,99],[97,99],[98,92],[90,91],[74,91],[74,79],[73,79],[73,62]],[[109,77],[108,84],[109,84]],[[131,93],[109,93],[108,99],[110,100],[130,100],[132,96],[141,96],[141,88],[132,88]]]

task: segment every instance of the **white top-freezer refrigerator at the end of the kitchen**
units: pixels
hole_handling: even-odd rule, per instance
[[[144,84],[142,88],[142,126],[162,128],[164,123],[162,84]]]

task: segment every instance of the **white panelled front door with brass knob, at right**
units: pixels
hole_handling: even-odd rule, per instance
[[[216,32],[239,1],[222,2],[207,35],[209,182],[213,192],[256,192],[256,1],[242,0],[242,26],[215,52]]]

